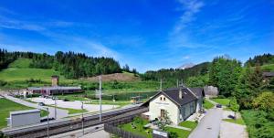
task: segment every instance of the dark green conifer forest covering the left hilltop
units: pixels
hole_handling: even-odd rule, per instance
[[[30,58],[30,68],[55,69],[68,79],[92,77],[100,74],[120,73],[120,64],[114,58],[94,58],[83,53],[61,52],[55,55],[33,52],[7,52],[0,49],[0,69],[5,69],[16,58]],[[127,65],[127,69],[129,69]],[[136,69],[132,69],[137,72]]]

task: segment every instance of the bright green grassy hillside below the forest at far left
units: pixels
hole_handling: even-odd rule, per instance
[[[19,58],[9,64],[7,69],[0,71],[0,80],[15,81],[15,80],[43,80],[50,81],[52,75],[60,76],[61,80],[66,80],[54,69],[33,69],[29,68],[31,59]]]

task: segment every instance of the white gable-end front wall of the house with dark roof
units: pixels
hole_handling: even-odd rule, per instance
[[[160,97],[162,97],[162,101],[160,100]],[[163,98],[165,98],[165,101],[163,101]],[[160,117],[161,109],[168,112],[168,115],[174,124],[179,123],[179,110],[177,105],[173,101],[166,98],[163,94],[158,95],[150,101],[150,120]]]

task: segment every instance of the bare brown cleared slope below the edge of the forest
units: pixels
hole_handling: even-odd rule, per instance
[[[90,81],[98,81],[99,76],[96,77],[91,77],[91,78],[82,78],[80,80],[90,80]],[[101,75],[101,80],[103,81],[135,81],[135,80],[140,80],[139,77],[134,76],[133,73],[129,72],[122,72],[122,73],[113,73],[113,74],[107,74],[107,75]]]

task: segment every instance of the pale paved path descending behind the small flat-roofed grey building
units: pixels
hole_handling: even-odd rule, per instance
[[[28,107],[37,108],[37,109],[40,109],[40,110],[47,111],[47,109],[45,108],[46,106],[45,107],[44,106],[39,106],[37,103],[24,101],[24,100],[17,99],[15,97],[8,96],[8,95],[4,95],[4,97],[6,99],[10,100],[10,101],[14,101],[14,102],[17,102],[19,104],[23,104],[23,105],[28,106]],[[55,117],[55,108],[48,107],[48,111],[49,111],[48,117],[49,118],[54,118]],[[68,111],[57,109],[57,118],[60,119],[60,118],[65,118],[65,117],[68,117]]]

